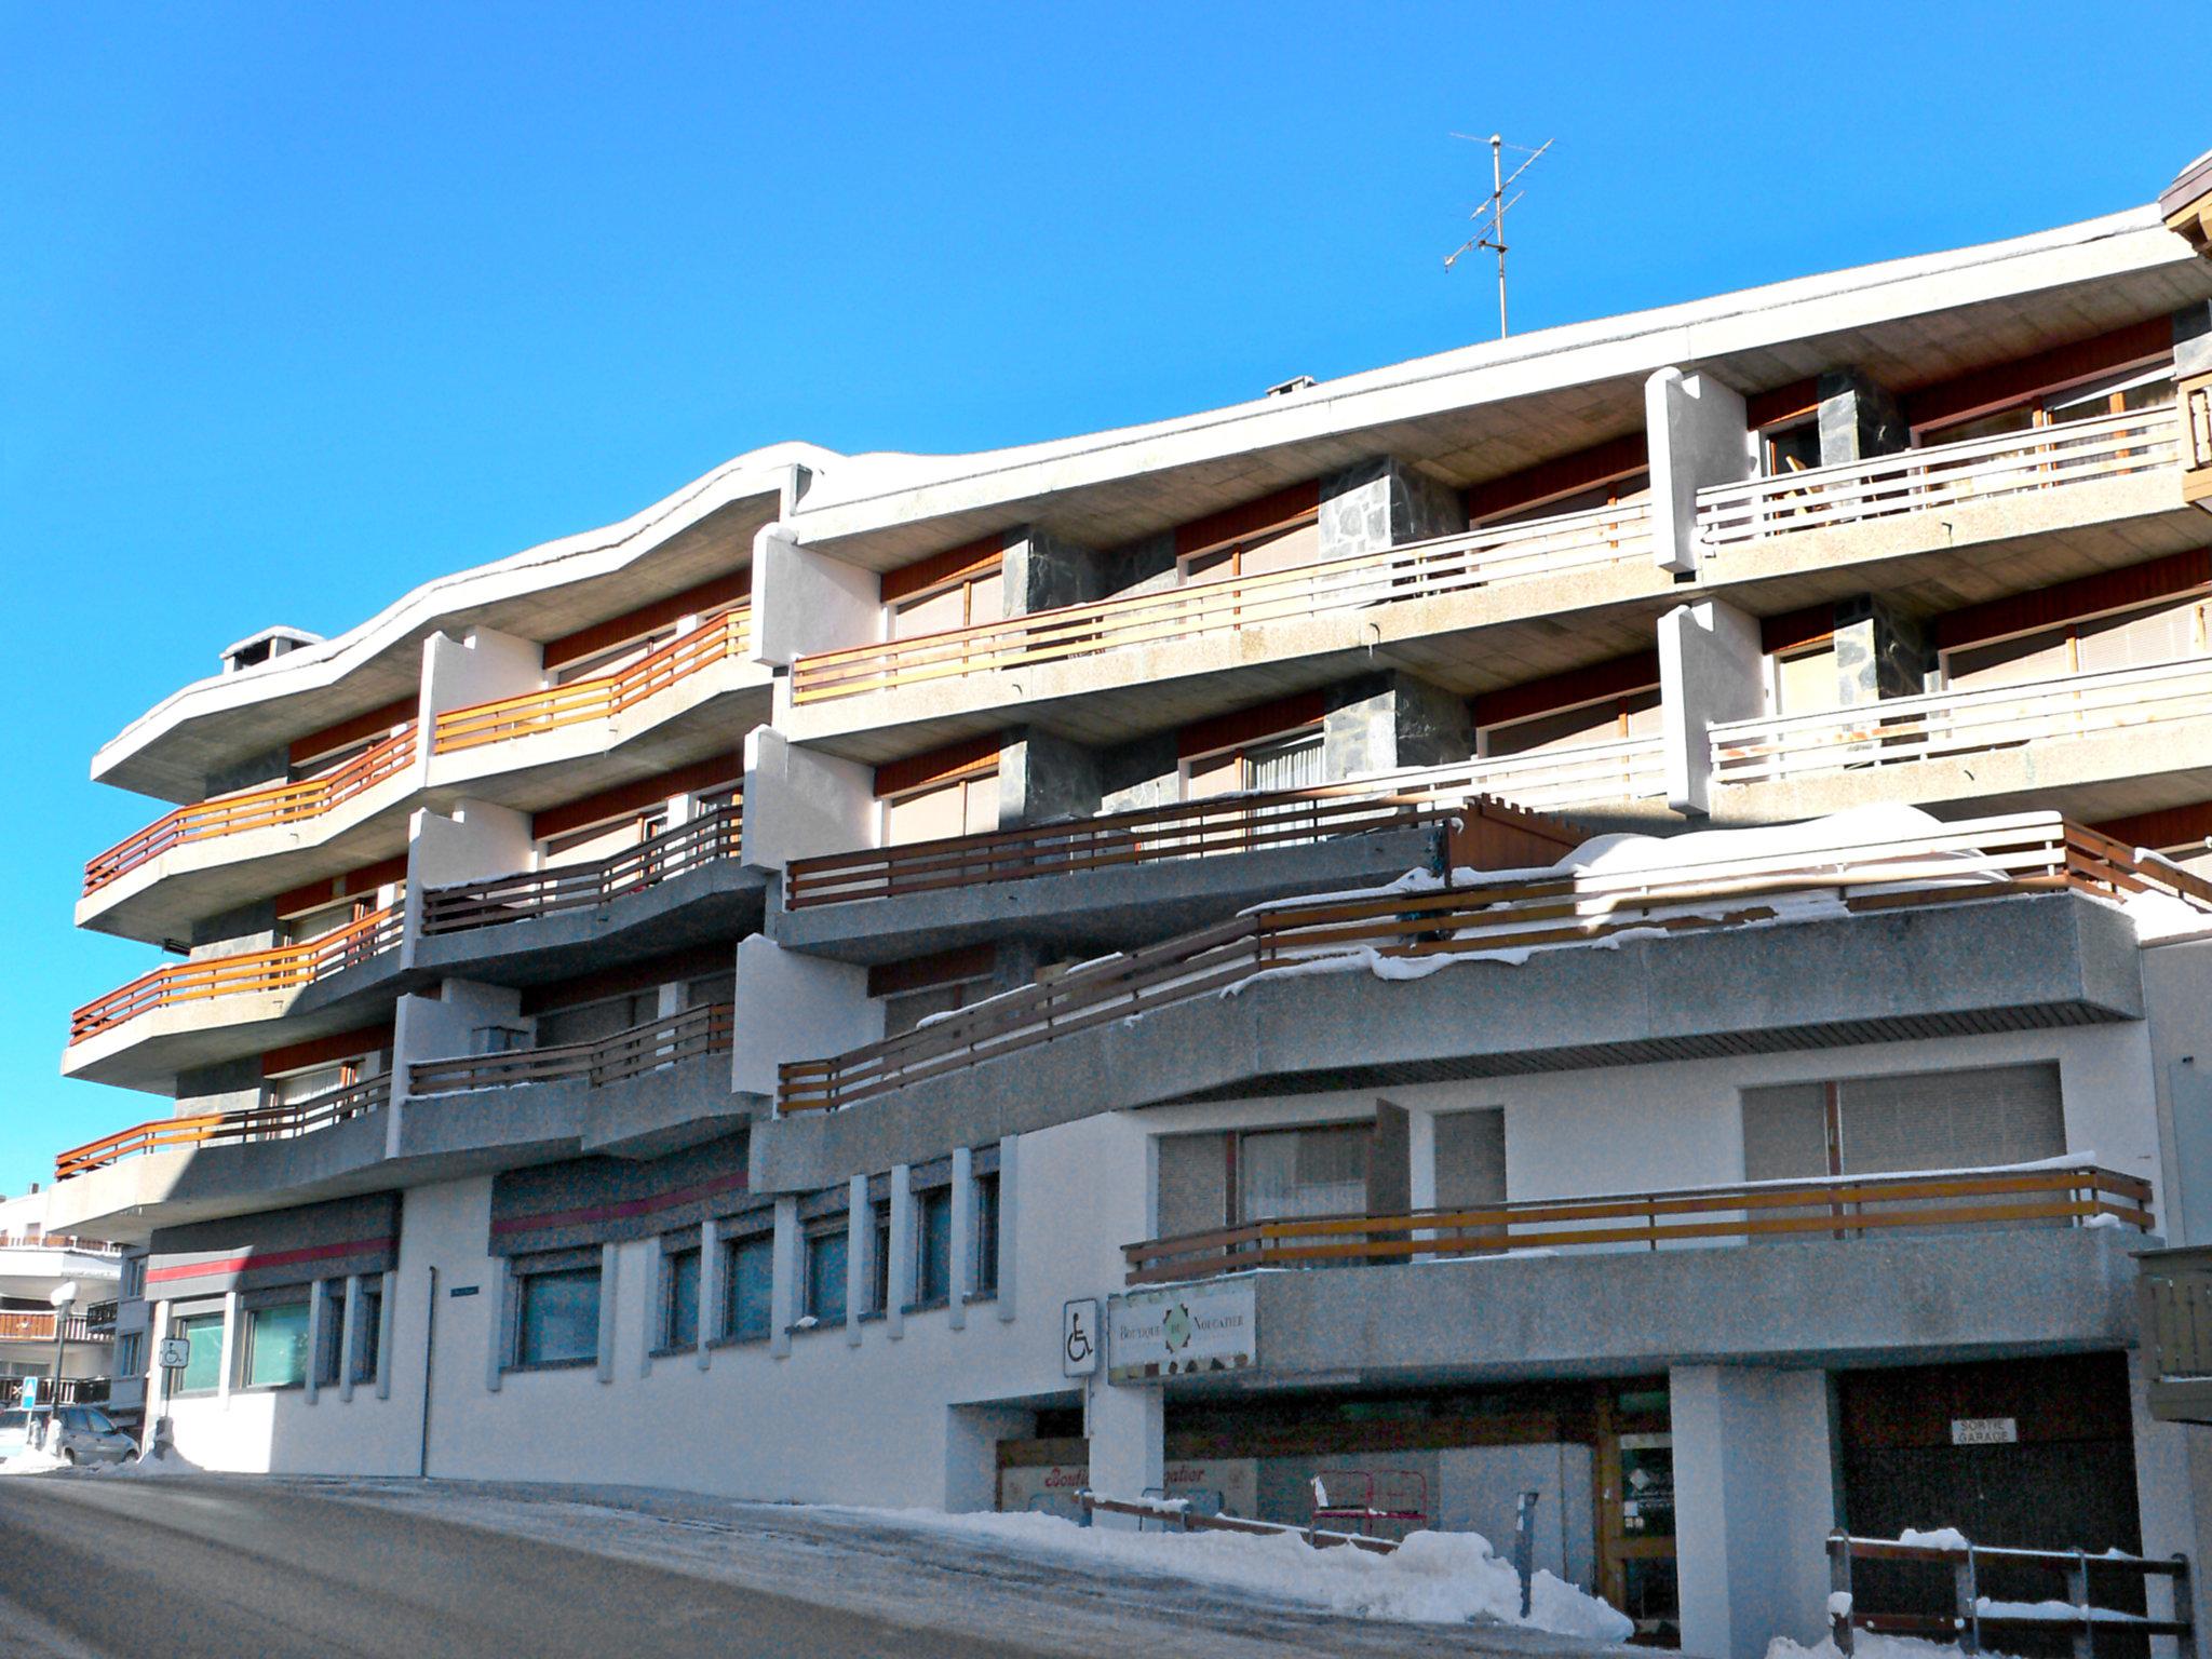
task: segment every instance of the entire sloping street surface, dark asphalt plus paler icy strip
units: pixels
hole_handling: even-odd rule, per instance
[[[0,1478],[7,1659],[1203,1652],[1577,1659],[1340,1619],[834,1511],[608,1489]],[[1619,1652],[1619,1650],[1615,1650]]]

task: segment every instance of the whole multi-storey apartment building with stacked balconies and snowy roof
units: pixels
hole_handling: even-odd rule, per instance
[[[254,635],[93,765],[179,803],[77,918],[184,960],[64,1060],[175,1110],[53,1192],[148,1250],[148,1416],[1493,1537],[1533,1486],[1710,1655],[1818,1635],[1836,1522],[2194,1548],[2132,1250],[2212,1239],[2203,173],[1128,431],[759,451]],[[1551,869],[1613,830],[1732,834]]]

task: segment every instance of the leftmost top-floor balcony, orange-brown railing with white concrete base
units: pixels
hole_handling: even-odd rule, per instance
[[[416,728],[321,776],[177,807],[84,865],[77,927],[161,940],[199,916],[407,849]]]

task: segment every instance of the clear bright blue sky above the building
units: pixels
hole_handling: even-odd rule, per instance
[[[2201,0],[2086,15],[0,0],[0,1192],[166,1110],[55,1075],[157,962],[69,927],[161,812],[86,761],[226,641],[776,438],[975,449],[1489,338],[1453,131],[1559,139],[1515,332],[2148,201],[2212,144]]]

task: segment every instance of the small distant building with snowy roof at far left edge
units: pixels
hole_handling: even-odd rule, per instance
[[[124,1254],[104,1239],[51,1230],[46,1201],[38,1190],[0,1199],[0,1405],[22,1398],[27,1376],[49,1396],[60,1378],[71,1405],[106,1405]],[[53,1301],[62,1285],[75,1285],[66,1312]]]

